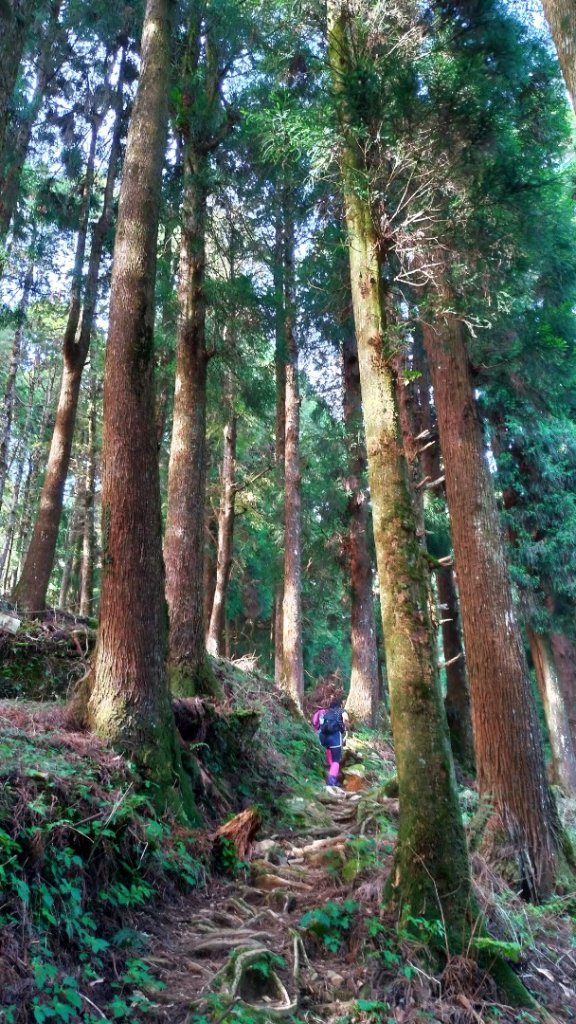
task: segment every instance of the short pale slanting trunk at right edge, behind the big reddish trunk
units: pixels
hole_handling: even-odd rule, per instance
[[[536,633],[530,626],[526,632],[548,726],[553,781],[568,797],[573,797],[576,795],[576,752],[550,638]]]

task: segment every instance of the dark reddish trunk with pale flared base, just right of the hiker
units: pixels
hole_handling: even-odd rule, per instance
[[[372,596],[372,559],[368,549],[369,499],[363,485],[366,442],[356,335],[346,332],[343,351],[344,424],[348,449],[345,542],[351,575],[352,672],[346,711],[353,721],[375,728],[379,710],[378,649]]]

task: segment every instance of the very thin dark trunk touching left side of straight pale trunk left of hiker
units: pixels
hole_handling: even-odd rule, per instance
[[[279,211],[276,220],[276,239],[274,251],[274,295],[276,302],[275,314],[275,370],[276,370],[276,442],[275,466],[278,493],[282,496],[282,512],[279,517],[279,527],[284,534],[284,472],[286,447],[286,336],[284,319],[284,217]],[[282,625],[282,605],[284,601],[284,558],[282,572],[276,585],[274,596],[274,681],[277,686],[282,684],[284,671],[284,628]]]

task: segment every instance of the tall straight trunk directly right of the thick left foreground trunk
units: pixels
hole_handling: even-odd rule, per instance
[[[221,114],[223,70],[206,13],[206,8],[193,5],[182,70],[186,113],[178,127],[184,140],[184,190],[176,383],[164,541],[170,608],[170,682],[172,690],[184,696],[220,692],[206,655],[203,601],[209,359],[205,276],[209,154],[223,140],[229,126]]]

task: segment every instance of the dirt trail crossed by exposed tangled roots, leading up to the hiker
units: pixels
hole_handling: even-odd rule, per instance
[[[361,794],[321,791],[313,802],[321,823],[256,843],[245,880],[212,884],[169,923],[149,922],[153,940],[146,959],[166,984],[154,1000],[158,1021],[180,1024],[195,1013],[212,1020],[206,996],[214,986],[221,1002],[213,1019],[222,1022],[227,1005],[230,1010],[238,1001],[264,1011],[271,1022],[304,1008],[329,1020],[358,996],[362,964],[349,952],[331,955],[310,934],[304,946],[298,923],[306,910],[348,895],[338,865],[346,841],[362,827],[360,801]]]

